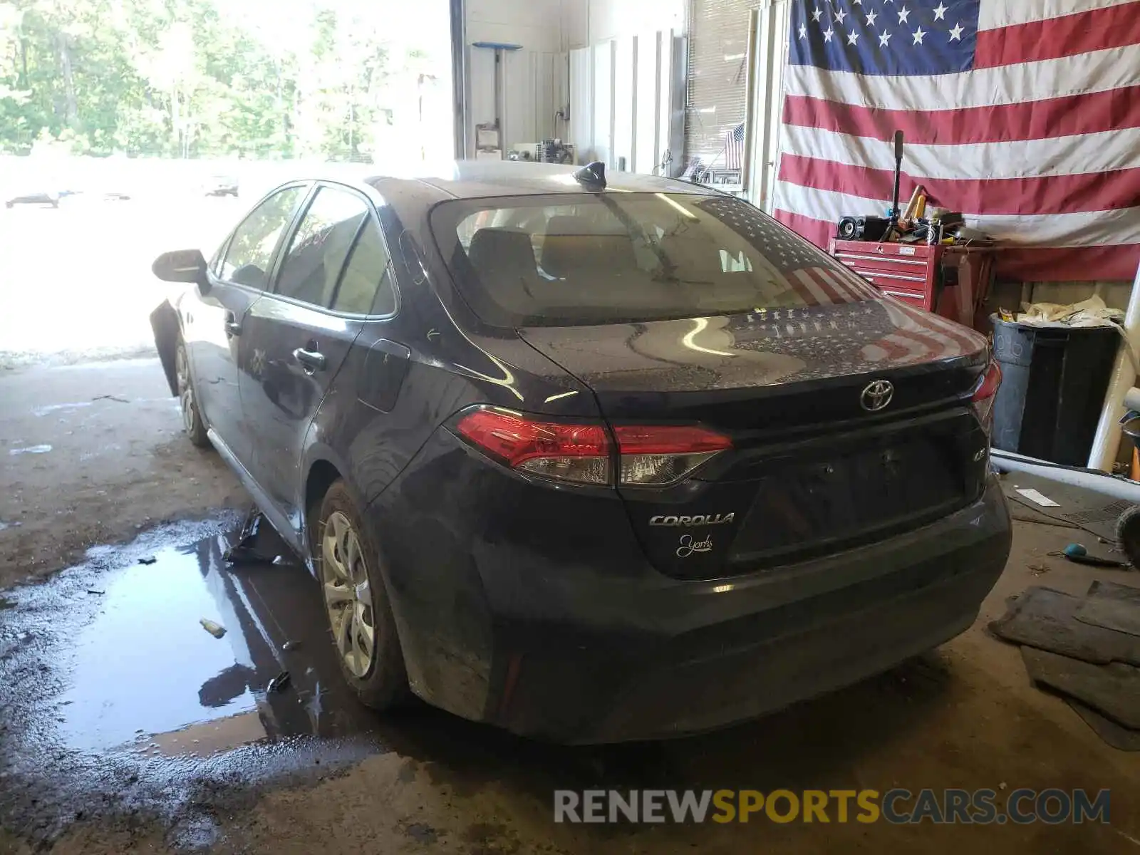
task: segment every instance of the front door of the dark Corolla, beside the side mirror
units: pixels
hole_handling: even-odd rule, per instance
[[[249,213],[210,270],[210,287],[199,290],[182,318],[198,408],[215,438],[246,469],[253,442],[241,398],[244,324],[269,284],[282,238],[308,189],[306,184],[280,188]]]

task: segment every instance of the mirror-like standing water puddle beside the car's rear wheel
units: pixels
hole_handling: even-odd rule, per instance
[[[59,651],[60,743],[203,755],[267,736],[343,736],[375,726],[343,685],[311,575],[268,526],[259,551],[292,563],[230,565],[223,555],[235,539],[226,531],[162,546],[89,584],[78,584],[81,569],[65,575],[74,585],[66,596],[82,596],[80,610],[92,614],[67,633],[70,651]],[[27,592],[28,614],[52,587]],[[8,614],[18,622],[19,611]],[[221,637],[204,625],[221,627]],[[282,671],[288,685],[270,691]]]

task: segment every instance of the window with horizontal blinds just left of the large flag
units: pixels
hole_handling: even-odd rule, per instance
[[[758,0],[692,0],[685,158],[724,165],[725,135],[744,121],[748,13]]]

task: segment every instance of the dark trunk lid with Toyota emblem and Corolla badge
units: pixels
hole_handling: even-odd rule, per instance
[[[881,539],[984,486],[987,438],[969,398],[985,339],[893,300],[519,333],[589,386],[611,425],[700,424],[732,440],[677,484],[619,487],[648,555],[674,577]],[[878,381],[885,398],[868,392]]]

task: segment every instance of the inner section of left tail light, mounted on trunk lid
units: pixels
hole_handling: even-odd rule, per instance
[[[669,425],[618,425],[613,429],[621,453],[621,483],[661,486],[674,483],[732,441],[705,427]]]

